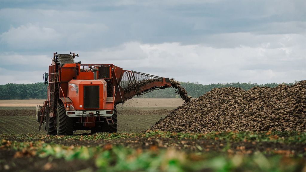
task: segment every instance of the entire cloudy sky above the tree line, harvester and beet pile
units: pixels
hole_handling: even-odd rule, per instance
[[[53,52],[201,84],[306,79],[306,1],[0,1],[0,84]]]

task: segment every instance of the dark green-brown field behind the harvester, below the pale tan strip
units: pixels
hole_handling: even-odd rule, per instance
[[[118,110],[118,132],[143,132],[172,110]],[[0,133],[38,133],[39,123],[35,120],[35,110],[0,110]],[[45,131],[43,130],[43,133]],[[80,131],[86,132],[86,131]],[[77,133],[80,133],[77,132]]]

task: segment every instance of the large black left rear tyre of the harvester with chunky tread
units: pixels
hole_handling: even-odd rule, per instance
[[[73,119],[66,115],[65,106],[58,105],[56,115],[57,135],[73,135]]]

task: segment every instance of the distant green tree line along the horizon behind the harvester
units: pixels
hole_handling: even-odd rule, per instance
[[[249,90],[255,86],[258,87],[276,87],[279,84],[252,84],[252,83],[227,83],[227,84],[209,84],[203,85],[198,82],[180,82],[181,86],[184,87],[188,95],[197,98],[206,92],[211,91],[213,88],[223,87],[237,87],[244,90]],[[283,83],[286,85],[293,85],[294,83]],[[165,88],[155,90],[153,92],[144,94],[142,98],[178,98],[179,95],[175,93],[173,88]],[[47,99],[47,85],[42,82],[34,84],[4,84],[0,85],[0,99]]]

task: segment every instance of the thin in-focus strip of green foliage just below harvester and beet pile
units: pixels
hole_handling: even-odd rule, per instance
[[[51,136],[45,134],[0,134],[0,138],[5,140],[110,140],[120,138],[177,138],[177,139],[191,139],[199,138],[214,140],[224,140],[226,142],[275,142],[275,143],[302,143],[306,144],[306,133],[297,131],[286,132],[244,132],[244,131],[225,131],[225,132],[209,132],[209,133],[172,133],[164,131],[148,130],[144,133],[95,133],[91,135],[73,135],[73,136]],[[1,141],[0,141],[1,142]]]

